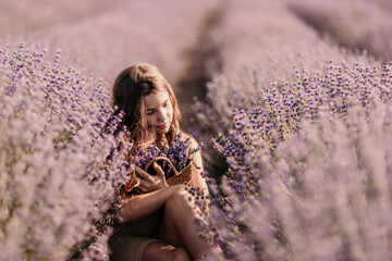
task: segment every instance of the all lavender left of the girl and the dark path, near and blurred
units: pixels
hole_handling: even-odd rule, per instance
[[[175,83],[215,4],[0,0],[0,260],[108,260],[126,177],[108,89],[138,61]]]

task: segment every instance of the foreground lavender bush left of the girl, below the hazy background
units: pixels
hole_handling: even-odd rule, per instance
[[[108,94],[45,54],[0,49],[1,260],[64,260],[126,182]]]

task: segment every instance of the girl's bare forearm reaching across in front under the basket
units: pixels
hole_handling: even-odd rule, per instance
[[[159,210],[176,189],[177,186],[171,186],[128,198],[119,207],[118,221],[126,223]]]

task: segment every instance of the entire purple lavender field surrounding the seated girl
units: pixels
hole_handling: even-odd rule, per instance
[[[0,260],[109,260],[128,149],[110,90],[139,61],[204,144],[216,260],[392,260],[391,17],[389,0],[0,0]]]

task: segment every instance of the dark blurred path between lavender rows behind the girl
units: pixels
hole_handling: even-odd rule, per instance
[[[196,45],[186,52],[187,65],[184,74],[174,84],[180,110],[182,113],[181,126],[186,133],[196,135],[198,141],[203,142],[204,166],[210,177],[219,182],[220,177],[228,171],[224,157],[213,148],[211,139],[215,134],[208,133],[204,126],[198,126],[198,121],[192,110],[195,98],[200,102],[207,102],[207,83],[211,80],[212,72],[222,71],[222,59],[219,46],[213,41],[212,34],[221,26],[224,16],[222,7],[210,10],[200,24],[200,34]],[[195,121],[194,121],[195,120]],[[201,133],[200,133],[201,132]],[[199,137],[200,136],[200,137]]]

